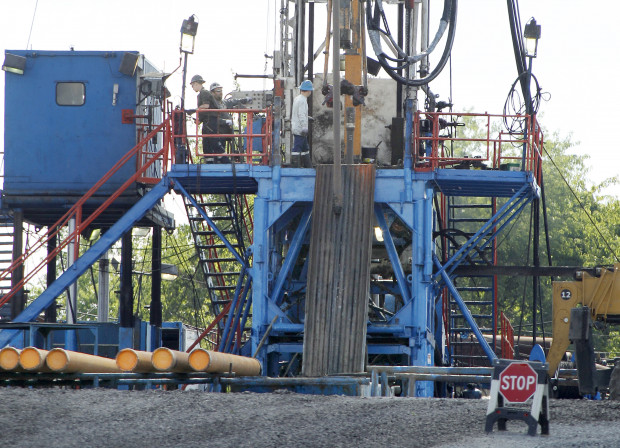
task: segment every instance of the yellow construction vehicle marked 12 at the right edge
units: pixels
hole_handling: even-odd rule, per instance
[[[553,283],[553,343],[547,356],[549,375],[555,372],[571,342],[580,393],[594,393],[609,384],[610,369],[597,369],[592,344],[592,326],[620,323],[620,264],[578,271],[575,281]]]

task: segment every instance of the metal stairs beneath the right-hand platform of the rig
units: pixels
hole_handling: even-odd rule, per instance
[[[452,256],[478,230],[479,226],[487,222],[495,211],[495,200],[487,198],[471,199],[468,202],[463,198],[447,198],[446,233],[447,253]],[[466,258],[472,265],[494,265],[496,263],[495,241],[484,249],[478,249]],[[497,279],[490,275],[471,275],[456,277],[454,285],[461,295],[465,305],[471,312],[480,331],[490,335],[491,347],[495,347],[497,327]],[[449,310],[449,337],[451,346],[452,364],[458,366],[488,366],[488,357],[481,350],[471,329],[460,312],[454,298],[448,294]]]

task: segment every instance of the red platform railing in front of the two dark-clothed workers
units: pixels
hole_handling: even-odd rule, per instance
[[[173,133],[172,139],[180,138],[186,142],[193,142],[195,145],[193,154],[190,151],[190,161],[194,162],[196,158],[213,158],[215,161],[228,157],[237,163],[247,163],[250,165],[269,165],[269,159],[272,151],[272,134],[273,134],[273,115],[272,109],[208,109],[196,111],[196,113],[210,114],[228,114],[232,116],[233,132],[228,134],[202,134],[200,132],[200,123],[196,120],[193,133],[189,130],[187,133]],[[184,111],[174,111],[174,114],[184,114]],[[254,124],[256,115],[264,114],[264,123],[259,133],[254,132]],[[261,119],[262,121],[262,119]],[[207,153],[204,149],[200,149],[198,143],[203,139],[220,139],[227,141],[228,145],[226,153]],[[255,147],[256,139],[260,139],[261,148],[257,150]],[[188,148],[191,145],[188,144]]]

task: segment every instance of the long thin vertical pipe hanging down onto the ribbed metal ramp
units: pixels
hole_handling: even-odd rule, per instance
[[[334,213],[342,212],[342,169],[340,149],[340,0],[332,0],[332,78],[334,83]]]

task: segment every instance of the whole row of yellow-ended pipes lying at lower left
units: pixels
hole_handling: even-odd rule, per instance
[[[5,347],[0,350],[0,369],[8,372],[57,373],[229,373],[257,376],[261,373],[258,360],[245,356],[198,348],[191,353],[158,348],[154,352],[123,349],[116,359],[55,348],[23,350]]]

